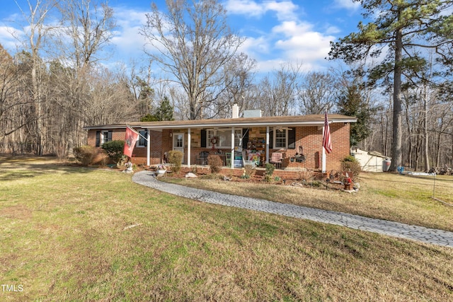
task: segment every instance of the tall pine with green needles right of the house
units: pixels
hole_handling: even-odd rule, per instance
[[[355,0],[357,1],[357,0]],[[371,80],[384,79],[393,88],[392,163],[395,171],[402,165],[402,86],[418,76],[427,61],[423,55],[435,50],[441,65],[451,62],[453,42],[452,0],[361,0],[363,16],[372,21],[358,25],[358,32],[331,42],[330,59],[352,63],[386,57],[369,70]],[[446,71],[447,69],[445,69]],[[393,80],[393,83],[391,83]]]

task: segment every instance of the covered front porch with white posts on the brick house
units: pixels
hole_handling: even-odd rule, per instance
[[[273,120],[275,117],[273,117]],[[161,132],[163,161],[168,152],[181,151],[183,164],[208,165],[209,156],[219,156],[226,168],[264,168],[272,163],[278,170],[321,169],[326,170],[326,156],[322,148],[323,120],[319,122],[270,122],[251,119],[228,119],[228,122],[185,121],[179,125],[152,124],[148,132]],[[181,123],[183,121],[180,121]],[[217,123],[216,123],[217,122]]]

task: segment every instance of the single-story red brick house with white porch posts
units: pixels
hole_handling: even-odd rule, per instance
[[[189,167],[206,165],[207,156],[217,154],[229,168],[277,161],[277,168],[285,170],[338,170],[340,161],[350,154],[350,123],[357,118],[333,114],[328,120],[333,151],[324,156],[324,115],[238,117],[236,113],[228,119],[130,122],[84,129],[88,145],[98,147],[105,141],[124,140],[127,126],[135,129],[142,134],[133,151],[136,164],[163,163],[168,151],[178,150]]]

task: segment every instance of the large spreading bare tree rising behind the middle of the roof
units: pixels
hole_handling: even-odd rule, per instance
[[[203,108],[226,87],[222,69],[234,58],[244,38],[231,33],[226,11],[217,0],[166,0],[167,13],[155,3],[140,33],[158,62],[187,94],[188,118],[203,117]]]

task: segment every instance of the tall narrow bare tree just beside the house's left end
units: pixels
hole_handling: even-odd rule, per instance
[[[91,68],[100,59],[101,52],[113,37],[115,21],[113,9],[107,1],[62,0],[58,1],[62,16],[61,27],[57,33],[59,39],[59,59],[71,66],[67,76],[62,77],[62,90],[65,110],[68,110],[64,123],[67,125],[67,155],[72,155],[74,146],[82,144],[84,133],[81,127],[89,115],[90,85],[87,79]],[[67,42],[69,41],[69,42]]]

